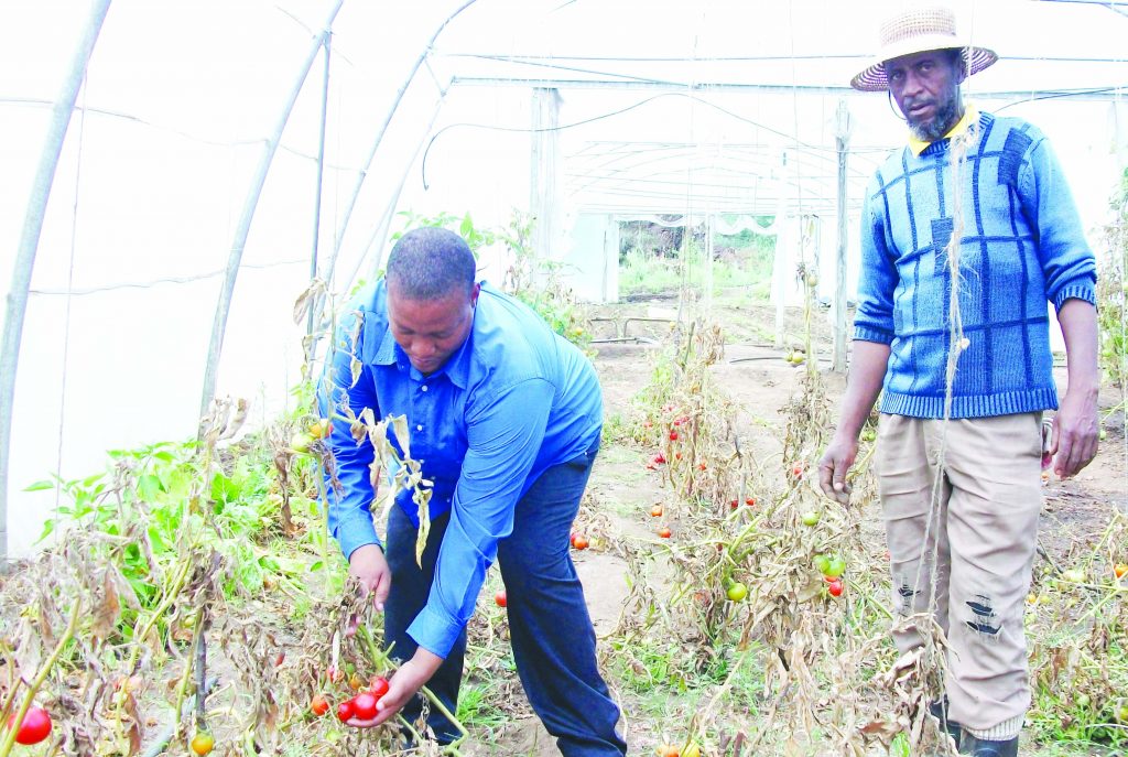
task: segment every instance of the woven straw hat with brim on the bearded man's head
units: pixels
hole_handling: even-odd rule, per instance
[[[926,50],[963,50],[968,72],[978,73],[998,60],[995,51],[971,47],[955,34],[955,14],[943,6],[915,6],[902,9],[881,24],[880,50],[869,67],[851,79],[849,86],[863,91],[880,93],[889,88],[885,61]]]

